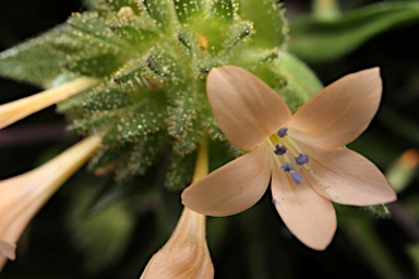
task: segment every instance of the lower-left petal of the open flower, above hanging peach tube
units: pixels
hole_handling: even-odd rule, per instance
[[[183,191],[182,204],[208,216],[228,216],[250,208],[270,183],[268,151],[262,145],[211,172]]]

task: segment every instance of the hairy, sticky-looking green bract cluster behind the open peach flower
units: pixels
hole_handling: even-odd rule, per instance
[[[294,108],[311,94],[292,89],[303,86],[294,86],[286,65],[301,63],[285,52],[288,27],[276,0],[89,0],[86,5],[89,11],[0,53],[0,75],[45,88],[94,81],[67,96],[58,110],[71,131],[104,133],[89,165],[97,174],[113,172],[117,180],[144,174],[165,154],[166,186],[188,185],[202,136],[225,140],[205,95],[214,66],[251,69]]]

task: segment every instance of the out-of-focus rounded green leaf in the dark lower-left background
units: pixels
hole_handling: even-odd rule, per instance
[[[68,230],[83,255],[83,268],[89,274],[106,268],[116,257],[122,256],[134,229],[134,215],[123,202],[86,215],[84,210],[93,194],[92,189],[80,187],[68,217]]]

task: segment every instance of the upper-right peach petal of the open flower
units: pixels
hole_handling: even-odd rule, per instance
[[[346,75],[323,88],[292,117],[295,136],[322,147],[340,147],[357,138],[379,109],[380,69]]]

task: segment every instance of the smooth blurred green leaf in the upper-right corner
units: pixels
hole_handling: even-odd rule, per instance
[[[418,21],[418,2],[380,2],[328,21],[311,15],[296,17],[290,22],[288,50],[306,61],[331,61],[380,33]]]

